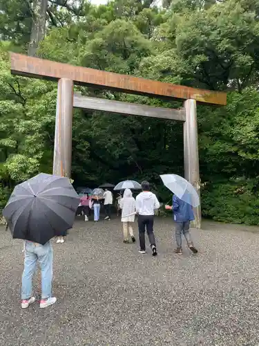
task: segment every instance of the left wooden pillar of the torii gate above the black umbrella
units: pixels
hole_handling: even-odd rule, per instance
[[[71,176],[73,80],[61,78],[57,88],[53,174]]]

